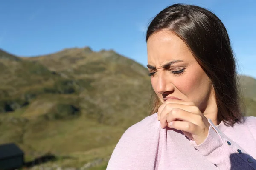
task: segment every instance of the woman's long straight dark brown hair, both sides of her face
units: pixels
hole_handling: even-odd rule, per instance
[[[218,106],[218,119],[225,125],[241,122],[236,63],[227,30],[212,12],[194,5],[174,4],[163,9],[148,26],[146,41],[157,31],[168,29],[188,46],[196,61],[211,79]],[[151,114],[161,102],[151,96]]]

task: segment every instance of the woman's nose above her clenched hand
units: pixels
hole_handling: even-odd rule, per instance
[[[159,71],[158,73],[158,79],[157,79],[157,92],[160,94],[164,94],[167,91],[173,91],[174,85],[168,78],[168,75],[166,75],[166,71]]]

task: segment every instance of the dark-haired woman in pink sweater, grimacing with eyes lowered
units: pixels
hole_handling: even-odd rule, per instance
[[[221,20],[175,4],[151,21],[146,40],[153,114],[126,130],[107,170],[256,170],[256,118],[241,113]]]

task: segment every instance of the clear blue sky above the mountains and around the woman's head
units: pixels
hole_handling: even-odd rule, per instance
[[[145,66],[146,26],[173,3],[213,11],[227,27],[239,73],[256,78],[255,0],[5,0],[0,48],[29,57],[89,46],[113,49]]]

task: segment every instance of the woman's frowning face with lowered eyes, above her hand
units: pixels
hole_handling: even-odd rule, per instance
[[[204,113],[209,99],[213,99],[213,88],[185,42],[163,30],[148,38],[147,52],[151,84],[160,101],[194,102]]]

